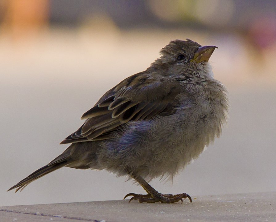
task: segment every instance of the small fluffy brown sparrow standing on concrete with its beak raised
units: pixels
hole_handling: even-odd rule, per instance
[[[208,63],[215,48],[171,41],[146,71],[123,80],[84,113],[84,124],[61,142],[72,143],[61,155],[9,190],[66,166],[134,179],[147,194],[129,193],[124,199],[130,201],[192,202],[186,193],[161,194],[148,182],[172,178],[220,135],[229,105]]]

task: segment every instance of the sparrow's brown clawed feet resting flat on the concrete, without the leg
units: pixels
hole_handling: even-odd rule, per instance
[[[192,202],[192,198],[190,197],[190,195],[186,194],[186,193],[181,193],[181,194],[161,194],[161,193],[156,193],[156,194],[135,194],[135,193],[129,193],[127,194],[124,199],[128,196],[133,196],[130,198],[129,202],[131,200],[138,200],[139,203],[157,203],[157,202],[161,202],[161,203],[166,203],[166,204],[171,204],[171,203],[175,203],[178,201],[181,201],[181,204],[183,203],[183,198],[186,199],[188,198],[191,202]]]

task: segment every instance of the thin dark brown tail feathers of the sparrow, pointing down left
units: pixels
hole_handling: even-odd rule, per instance
[[[53,161],[52,161],[53,162]],[[29,176],[27,176],[25,179],[21,180],[19,183],[15,184],[13,187],[11,187],[10,189],[8,189],[7,191],[10,191],[12,189],[15,189],[15,193],[17,191],[22,191],[29,183],[33,182],[34,180],[37,180],[38,178],[53,172],[54,170],[57,170],[61,167],[64,167],[68,164],[68,161],[65,159],[63,161],[58,161],[56,163],[49,163],[48,165],[36,170],[35,172],[33,172],[32,174],[30,174]]]

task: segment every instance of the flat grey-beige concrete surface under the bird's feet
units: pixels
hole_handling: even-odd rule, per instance
[[[193,196],[183,204],[137,200],[1,207],[0,221],[276,221],[276,192]]]

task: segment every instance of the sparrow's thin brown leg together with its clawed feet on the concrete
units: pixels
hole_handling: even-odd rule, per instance
[[[161,194],[159,192],[157,192],[152,186],[150,186],[150,184],[148,184],[144,179],[142,179],[142,177],[140,176],[135,176],[132,175],[131,176],[134,180],[136,180],[145,190],[148,194],[143,195],[143,194],[135,194],[135,193],[129,193],[127,194],[124,199],[128,196],[133,196],[129,202],[131,200],[138,200],[139,203],[156,203],[156,202],[161,202],[161,203],[175,203],[178,201],[181,201],[181,203],[183,203],[182,198],[186,199],[188,198],[191,202],[192,202],[192,198],[186,194],[186,193],[181,193],[181,194]]]

